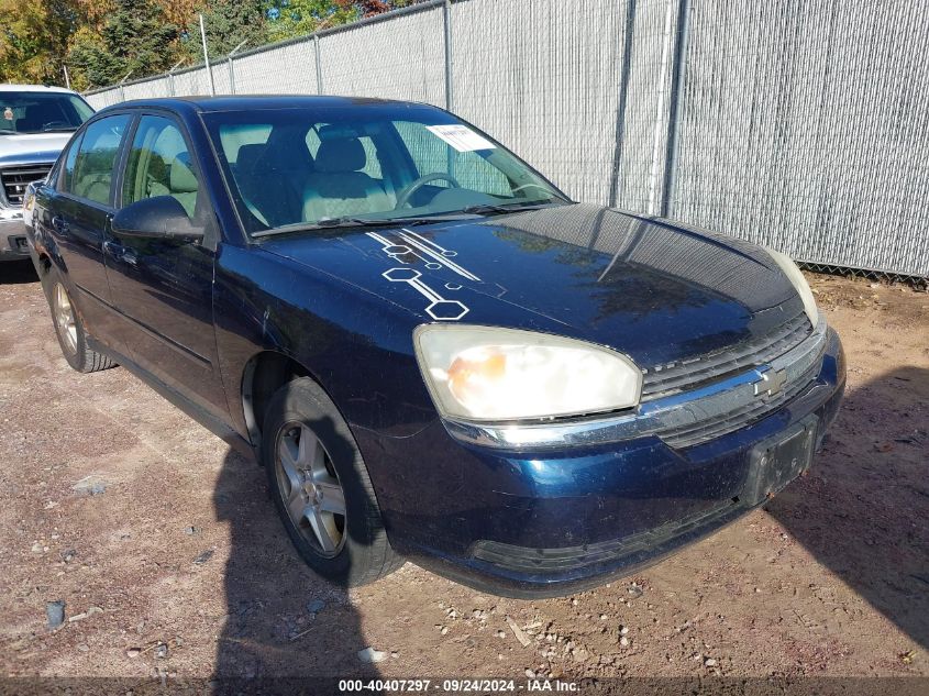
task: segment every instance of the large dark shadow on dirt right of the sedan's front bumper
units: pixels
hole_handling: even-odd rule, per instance
[[[850,391],[810,473],[766,506],[818,562],[924,648],[927,405],[925,368],[896,369]]]

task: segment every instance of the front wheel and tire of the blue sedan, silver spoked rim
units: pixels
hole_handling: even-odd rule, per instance
[[[307,565],[357,587],[403,564],[387,540],[355,439],[318,384],[303,377],[278,389],[263,433],[270,496]]]

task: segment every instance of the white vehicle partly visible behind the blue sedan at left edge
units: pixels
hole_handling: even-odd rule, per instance
[[[71,133],[92,113],[68,89],[0,85],[0,262],[29,258],[26,187],[48,175]]]

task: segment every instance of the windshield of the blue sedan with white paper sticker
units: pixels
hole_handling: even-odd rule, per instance
[[[427,106],[203,115],[250,234],[568,202],[513,154]]]

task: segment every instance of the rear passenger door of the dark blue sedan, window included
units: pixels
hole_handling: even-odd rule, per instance
[[[100,119],[71,143],[45,221],[85,325],[119,352],[103,244],[113,214],[113,172],[131,120],[126,113]]]

